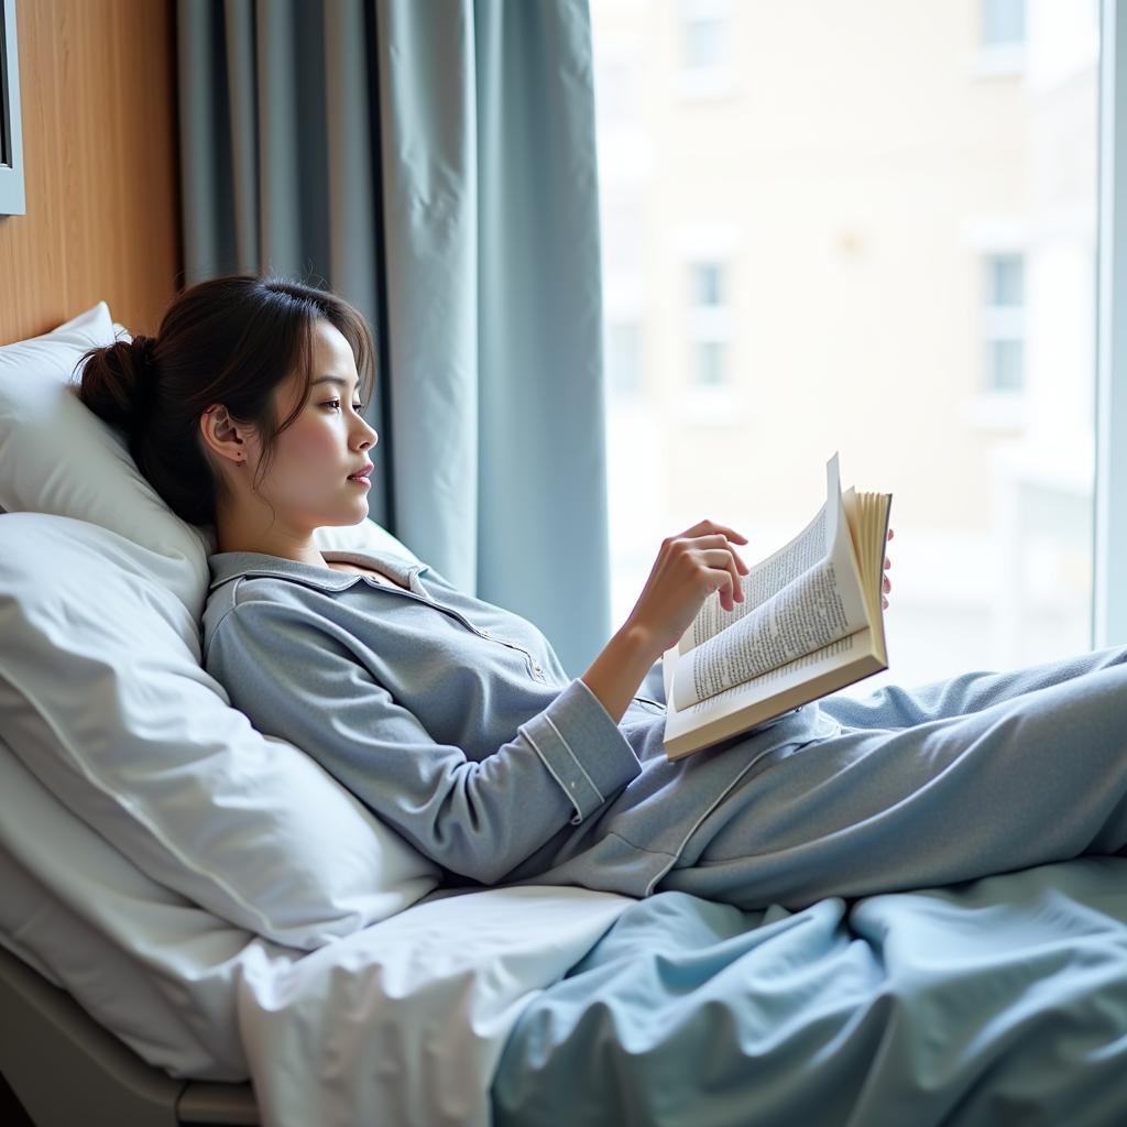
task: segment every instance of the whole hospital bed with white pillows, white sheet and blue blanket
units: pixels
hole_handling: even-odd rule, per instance
[[[0,347],[0,1075],[33,1121],[1127,1122],[1122,858],[797,912],[441,887],[202,669],[212,545],[73,394],[125,331],[99,303]]]

